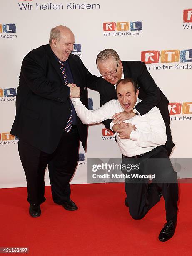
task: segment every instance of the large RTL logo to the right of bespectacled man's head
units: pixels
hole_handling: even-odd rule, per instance
[[[192,49],[188,50],[163,50],[161,51],[141,51],[141,61],[146,64],[169,63],[169,62],[192,62]]]

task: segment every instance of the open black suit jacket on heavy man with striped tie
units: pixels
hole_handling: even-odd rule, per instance
[[[102,85],[103,81],[93,76],[78,56],[70,54],[68,61],[74,83],[81,88],[80,100],[88,107],[87,86],[96,90],[96,82]],[[50,45],[30,51],[22,62],[11,134],[46,153],[54,152],[70,115],[69,95]],[[87,125],[77,118],[77,128],[86,150]]]

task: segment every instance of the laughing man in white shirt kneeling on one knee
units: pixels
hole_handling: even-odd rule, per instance
[[[76,113],[82,123],[99,123],[107,118],[113,119],[115,113],[132,112],[141,101],[138,99],[137,83],[130,78],[121,79],[116,86],[118,100],[110,100],[101,108],[90,111],[79,98],[71,98]],[[166,220],[159,234],[159,240],[170,239],[177,223],[178,184],[177,173],[173,170],[166,149],[162,146],[167,141],[166,127],[160,110],[155,106],[145,115],[134,115],[129,120],[126,133],[116,133],[117,143],[123,154],[122,163],[138,164],[138,174],[154,174],[156,182],[162,189],[165,200]],[[133,172],[134,173],[134,172]],[[132,218],[141,219],[148,210],[160,201],[157,189],[149,189],[146,179],[125,179],[127,198]]]

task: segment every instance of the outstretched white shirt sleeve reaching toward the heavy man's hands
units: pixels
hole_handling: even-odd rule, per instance
[[[114,115],[114,100],[110,100],[96,110],[88,110],[79,98],[71,98],[71,101],[78,117],[84,124],[100,123]]]

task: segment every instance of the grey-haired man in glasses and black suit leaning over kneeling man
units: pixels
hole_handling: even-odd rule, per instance
[[[114,115],[115,124],[109,119],[104,121],[105,127],[115,132],[120,132],[122,136],[127,138],[126,124],[122,122],[132,118],[137,113],[144,115],[153,107],[157,106],[163,117],[167,131],[167,142],[164,147],[168,155],[170,155],[174,144],[169,126],[170,117],[167,108],[169,101],[155,84],[150,73],[147,71],[145,63],[141,61],[121,61],[115,50],[105,49],[97,55],[96,64],[100,71],[100,76],[110,83],[97,84],[97,90],[101,97],[101,105],[104,105],[110,100],[117,99],[115,86],[112,86],[112,84],[116,85],[120,79],[126,77],[130,77],[137,82],[139,86],[139,98],[142,100],[142,102],[137,104],[133,112],[123,112]]]

